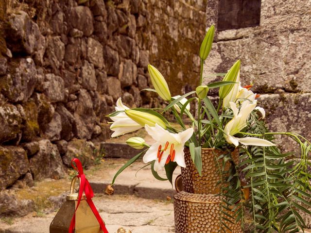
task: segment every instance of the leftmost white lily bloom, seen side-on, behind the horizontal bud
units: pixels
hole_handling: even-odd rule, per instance
[[[122,103],[121,98],[117,100],[117,106],[115,107],[116,111],[122,111],[129,109]],[[111,137],[117,137],[123,135],[125,133],[130,133],[137,131],[142,128],[141,125],[136,123],[130,117],[128,117],[124,112],[119,113],[117,116],[110,116],[110,119],[114,121],[114,123],[110,126],[110,130],[114,131]]]

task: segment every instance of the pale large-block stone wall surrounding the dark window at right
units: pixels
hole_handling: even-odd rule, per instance
[[[261,94],[272,131],[294,131],[311,139],[311,3],[261,0],[260,25],[215,33],[204,73],[228,70],[241,59],[242,85]],[[218,0],[207,2],[207,27],[217,28]],[[219,80],[220,78],[217,78]],[[216,80],[211,77],[207,82]],[[216,93],[214,93],[216,94]],[[278,138],[293,150],[294,143]]]

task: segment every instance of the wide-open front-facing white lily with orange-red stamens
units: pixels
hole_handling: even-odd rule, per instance
[[[145,125],[145,129],[156,142],[146,151],[143,157],[144,163],[155,160],[155,171],[158,171],[170,161],[176,162],[179,166],[186,167],[184,146],[192,136],[193,128],[180,133],[170,133],[158,124],[155,124],[155,127]]]

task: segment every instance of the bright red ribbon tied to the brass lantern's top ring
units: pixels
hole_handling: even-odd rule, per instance
[[[73,162],[76,164],[76,166],[73,165]],[[105,224],[103,222],[103,219],[99,215],[99,213],[98,213],[98,211],[97,211],[97,209],[96,209],[96,207],[92,201],[92,198],[94,197],[94,193],[93,193],[91,185],[88,183],[88,181],[86,179],[86,175],[83,173],[83,168],[82,168],[82,164],[81,164],[80,160],[77,158],[72,159],[71,160],[71,166],[79,173],[77,175],[77,177],[80,178],[80,188],[79,188],[79,196],[78,196],[77,207],[74,211],[74,215],[72,216],[71,222],[70,222],[69,233],[74,233],[74,229],[75,229],[75,225],[76,225],[76,217],[75,217],[76,211],[79,207],[83,192],[86,195],[86,202],[88,203],[89,207],[93,211],[102,231],[104,233],[108,233],[108,231],[105,227]]]

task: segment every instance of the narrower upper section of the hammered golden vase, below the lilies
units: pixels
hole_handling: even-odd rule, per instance
[[[183,181],[183,190],[188,193],[195,194],[219,194],[220,187],[217,183],[221,176],[219,166],[222,161],[216,159],[224,153],[217,149],[202,149],[202,176],[199,175],[196,167],[191,159],[190,150],[185,149],[186,167],[181,168],[181,176]],[[235,162],[238,161],[239,150],[234,150],[231,156]],[[230,168],[230,162],[227,162],[225,170]]]

